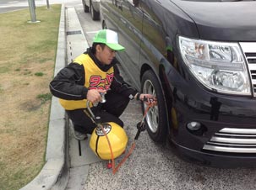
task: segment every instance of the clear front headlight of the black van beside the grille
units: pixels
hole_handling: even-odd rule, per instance
[[[213,91],[250,95],[250,82],[237,43],[178,37],[182,59],[199,82]]]

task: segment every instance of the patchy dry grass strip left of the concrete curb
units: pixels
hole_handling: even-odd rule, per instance
[[[61,5],[0,13],[0,189],[24,187],[45,163]]]

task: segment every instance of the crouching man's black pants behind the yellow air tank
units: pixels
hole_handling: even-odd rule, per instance
[[[123,121],[119,116],[129,103],[129,98],[111,91],[105,95],[106,103],[99,103],[91,111],[96,116],[101,117],[101,122],[114,122],[123,127]],[[90,117],[84,113],[84,109],[66,110],[69,119],[73,121],[74,129],[83,134],[91,134],[96,125],[91,121]]]

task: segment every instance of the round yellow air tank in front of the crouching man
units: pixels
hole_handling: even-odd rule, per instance
[[[95,152],[96,156],[99,156],[102,160],[112,160],[112,153],[106,139],[106,135],[101,129],[101,126],[107,135],[112,147],[113,158],[117,158],[122,155],[126,149],[128,143],[128,136],[124,129],[118,124],[113,122],[98,124],[90,136],[90,148]]]

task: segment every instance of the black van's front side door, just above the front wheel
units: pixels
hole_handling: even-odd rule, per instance
[[[140,65],[150,65],[158,76],[159,65],[161,61],[166,60],[166,33],[159,18],[165,13],[160,1],[139,0],[139,8],[144,13]]]

